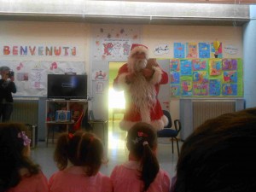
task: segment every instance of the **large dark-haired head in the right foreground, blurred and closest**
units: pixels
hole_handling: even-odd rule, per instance
[[[256,108],[209,119],[185,140],[175,192],[256,191]]]

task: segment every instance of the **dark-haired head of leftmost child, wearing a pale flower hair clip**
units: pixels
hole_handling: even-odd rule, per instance
[[[26,125],[20,123],[0,124],[1,189],[20,183],[21,169],[26,169],[27,177],[39,172],[39,166],[29,157],[31,140],[26,137],[26,131]]]

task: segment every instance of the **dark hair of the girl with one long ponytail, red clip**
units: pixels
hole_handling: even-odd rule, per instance
[[[160,170],[155,156],[157,147],[156,132],[152,125],[137,123],[128,131],[127,148],[130,154],[140,163],[140,179],[144,183],[143,191],[148,190]]]

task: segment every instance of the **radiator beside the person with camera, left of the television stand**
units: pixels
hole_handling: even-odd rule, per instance
[[[10,121],[38,125],[38,100],[15,100]]]

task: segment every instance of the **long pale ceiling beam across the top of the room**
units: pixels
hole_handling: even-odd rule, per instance
[[[250,5],[247,3],[253,1],[172,2],[174,1],[0,0],[0,20],[242,26],[250,20]]]

